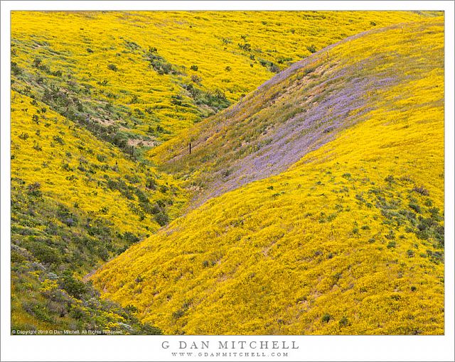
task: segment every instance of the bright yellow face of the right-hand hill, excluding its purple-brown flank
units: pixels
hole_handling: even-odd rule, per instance
[[[132,246],[95,286],[168,334],[444,333],[443,28],[333,49],[380,53],[378,74],[395,55],[407,66],[360,96],[360,123]]]

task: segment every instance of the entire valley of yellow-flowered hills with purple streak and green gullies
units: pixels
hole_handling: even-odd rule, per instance
[[[12,329],[444,333],[440,13],[11,18]]]

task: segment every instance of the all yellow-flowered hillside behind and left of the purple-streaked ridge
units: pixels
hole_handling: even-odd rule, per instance
[[[80,279],[176,217],[186,201],[172,177],[144,160],[141,148],[237,101],[309,55],[307,46],[319,49],[358,31],[422,17],[11,16],[13,327],[131,332],[117,324],[124,320],[134,333],[149,329],[128,311],[100,302]],[[190,69],[193,64],[197,70]],[[191,79],[196,75],[201,80]]]

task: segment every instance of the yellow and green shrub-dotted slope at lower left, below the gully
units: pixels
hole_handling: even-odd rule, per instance
[[[11,96],[12,327],[143,331],[80,280],[175,217],[185,193],[46,104]]]

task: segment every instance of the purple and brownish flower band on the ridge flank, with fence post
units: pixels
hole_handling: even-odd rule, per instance
[[[196,191],[195,205],[277,175],[380,108],[379,90],[420,77],[428,67],[409,64],[421,53],[410,48],[410,32],[395,38],[396,49],[376,52],[376,41],[390,29],[368,41],[354,35],[295,63],[235,106],[154,148],[151,157],[186,180]],[[394,29],[400,33],[402,25]]]

